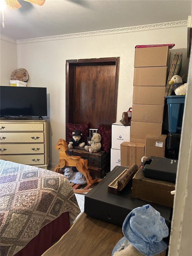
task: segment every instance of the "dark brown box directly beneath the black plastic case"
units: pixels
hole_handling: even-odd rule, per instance
[[[133,177],[131,196],[173,207],[175,183],[144,177],[141,168]]]

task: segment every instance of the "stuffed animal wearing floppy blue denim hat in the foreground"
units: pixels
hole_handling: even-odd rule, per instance
[[[123,222],[124,237],[115,245],[112,256],[160,256],[167,249],[169,235],[165,219],[151,205],[133,209]]]

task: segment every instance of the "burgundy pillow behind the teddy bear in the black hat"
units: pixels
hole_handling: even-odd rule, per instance
[[[87,141],[87,137],[89,136],[89,123],[86,124],[72,124],[72,123],[66,123],[67,125],[67,143],[69,143],[69,140],[72,138],[73,134],[72,132],[74,130],[80,130],[82,132],[82,139]]]

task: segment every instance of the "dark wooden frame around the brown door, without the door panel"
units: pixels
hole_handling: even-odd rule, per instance
[[[74,117],[75,117],[74,115],[75,67],[87,66],[87,65],[116,65],[115,91],[118,92],[119,61],[120,61],[120,57],[66,60],[66,98],[65,98],[66,122],[74,123]],[[117,112],[117,94],[115,95],[115,98],[114,98],[114,107]],[[66,128],[66,136],[67,136],[67,128]]]

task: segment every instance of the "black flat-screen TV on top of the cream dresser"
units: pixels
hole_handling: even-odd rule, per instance
[[[47,116],[46,87],[0,86],[1,116]]]

